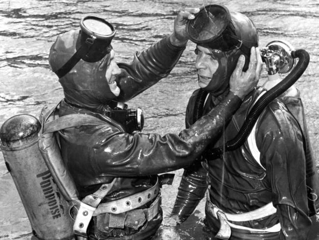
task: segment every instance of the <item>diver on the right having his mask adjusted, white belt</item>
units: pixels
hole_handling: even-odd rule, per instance
[[[199,87],[209,92],[204,114],[227,96],[229,79],[239,55],[244,54],[247,58],[247,50],[258,46],[258,34],[252,21],[238,12],[231,12],[231,19],[238,39],[246,48],[233,45],[227,49],[225,46],[231,43],[195,41]],[[199,91],[195,90],[189,99],[186,128],[194,123]],[[223,134],[207,149],[223,146],[236,136],[263,91],[258,87],[245,97],[232,120],[225,124]],[[212,155],[204,151],[202,163],[196,161],[185,168],[172,217],[185,221],[207,192],[205,224],[218,239],[307,239],[312,223],[308,216],[303,127],[287,108],[301,113],[300,104],[298,96],[285,95],[266,107],[256,125],[255,150],[246,142],[239,149],[224,152],[214,160],[210,160]],[[304,116],[300,119],[304,120]],[[260,158],[254,158],[256,151]],[[252,211],[263,207],[264,211],[253,214]],[[231,232],[227,232],[228,227]]]

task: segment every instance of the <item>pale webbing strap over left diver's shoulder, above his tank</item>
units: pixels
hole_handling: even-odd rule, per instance
[[[103,122],[103,120],[91,115],[70,114],[45,123],[43,126],[43,133],[55,132],[65,128],[81,125],[99,125]]]

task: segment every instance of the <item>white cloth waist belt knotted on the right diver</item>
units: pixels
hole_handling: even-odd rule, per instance
[[[216,238],[227,240],[230,238],[232,230],[234,229],[241,229],[247,230],[252,233],[274,233],[280,231],[280,223],[275,224],[274,226],[266,229],[254,229],[243,227],[229,221],[233,222],[244,222],[244,221],[251,221],[256,220],[259,218],[263,218],[269,215],[276,213],[276,209],[272,206],[272,202],[268,203],[267,205],[245,213],[238,213],[238,214],[231,214],[223,212],[222,210],[218,209],[212,202],[207,192],[207,210],[210,212],[214,218],[219,219],[220,222],[220,229],[216,234]]]

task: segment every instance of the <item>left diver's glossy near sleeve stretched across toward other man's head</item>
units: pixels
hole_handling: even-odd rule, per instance
[[[88,128],[90,131],[87,132],[86,142],[91,143],[91,146],[86,144],[78,146],[81,148],[78,151],[91,152],[93,156],[88,158],[93,160],[86,163],[87,166],[81,165],[81,167],[87,169],[93,167],[95,175],[136,177],[160,174],[189,166],[222,131],[225,121],[231,119],[240,103],[239,97],[230,93],[208,115],[198,120],[189,129],[183,130],[180,135],[127,134],[114,131],[109,126],[94,130]],[[80,129],[82,136],[83,127]],[[95,133],[92,134],[92,131]],[[90,149],[83,151],[83,148]],[[93,153],[92,149],[94,149]],[[75,150],[74,154],[78,151]]]

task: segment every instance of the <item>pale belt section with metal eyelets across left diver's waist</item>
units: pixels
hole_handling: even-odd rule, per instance
[[[144,204],[152,201],[160,193],[159,179],[157,179],[154,186],[145,191],[135,193],[131,196],[108,202],[101,203],[95,210],[93,216],[103,213],[119,214],[129,210],[133,210],[143,206]]]

